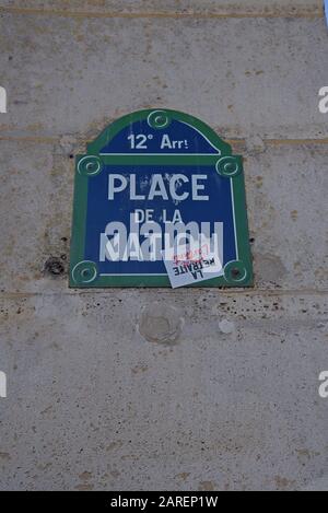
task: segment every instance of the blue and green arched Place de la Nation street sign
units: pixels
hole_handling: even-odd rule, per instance
[[[199,119],[129,114],[75,160],[70,287],[250,287],[243,160]]]

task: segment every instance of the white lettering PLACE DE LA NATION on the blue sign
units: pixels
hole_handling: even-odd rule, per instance
[[[129,217],[129,226],[119,221],[112,221],[99,238],[99,261],[157,261],[173,260],[177,246],[203,247],[208,244],[213,255],[223,255],[223,225],[221,222],[185,222],[178,205],[185,200],[209,201],[210,189],[208,175],[183,173],[160,174],[140,179],[137,173],[108,175],[109,201],[117,201],[120,195],[128,194],[133,201],[173,202],[175,208],[168,213],[166,208],[157,212],[152,208],[136,208]],[[165,205],[165,203],[164,203]],[[141,242],[142,241],[142,242]],[[210,252],[210,249],[209,249]],[[169,256],[168,256],[169,253]],[[208,255],[210,258],[210,254]]]

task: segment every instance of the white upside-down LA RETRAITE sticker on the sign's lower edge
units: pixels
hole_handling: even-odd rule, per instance
[[[194,247],[186,245],[162,252],[163,260],[173,289],[211,280],[223,275],[218,252],[210,243]]]

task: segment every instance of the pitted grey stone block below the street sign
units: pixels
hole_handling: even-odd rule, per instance
[[[185,318],[173,346],[136,329],[159,299]],[[2,304],[3,489],[295,489],[327,470],[320,294],[121,291]],[[220,330],[222,315],[235,335]]]

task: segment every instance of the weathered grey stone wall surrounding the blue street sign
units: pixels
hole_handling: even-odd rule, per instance
[[[328,489],[323,2],[1,0],[0,45],[0,488]],[[72,155],[148,107],[244,154],[254,289],[68,288]]]

